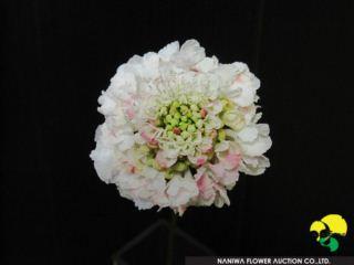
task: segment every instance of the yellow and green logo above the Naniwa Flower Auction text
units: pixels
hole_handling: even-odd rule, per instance
[[[323,247],[335,252],[340,247],[339,236],[346,235],[347,224],[340,214],[329,214],[321,221],[314,221],[310,226],[310,232],[316,233],[316,241]]]

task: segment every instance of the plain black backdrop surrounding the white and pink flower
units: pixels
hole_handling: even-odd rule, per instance
[[[249,64],[271,168],[231,206],[178,225],[219,255],[327,255],[312,221],[342,214],[354,255],[352,1],[1,2],[1,264],[107,264],[160,213],[137,211],[88,158],[97,97],[134,54],[197,39]]]

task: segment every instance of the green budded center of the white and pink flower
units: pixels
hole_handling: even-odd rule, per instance
[[[207,161],[212,161],[215,145],[227,139],[226,129],[237,129],[242,124],[242,115],[229,99],[211,100],[200,95],[198,98],[186,96],[164,102],[154,108],[153,115],[154,125],[162,130],[159,145],[145,145],[139,151],[145,153],[143,163],[164,172],[166,180],[186,170],[196,172],[199,165],[189,161],[189,155],[204,156]],[[164,168],[156,160],[159,148],[180,151],[171,167]]]

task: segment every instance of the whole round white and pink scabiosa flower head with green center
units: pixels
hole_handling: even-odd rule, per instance
[[[98,177],[138,209],[229,205],[239,172],[270,166],[258,124],[259,80],[243,63],[207,57],[195,40],[121,65],[98,98],[105,116],[91,158]]]

